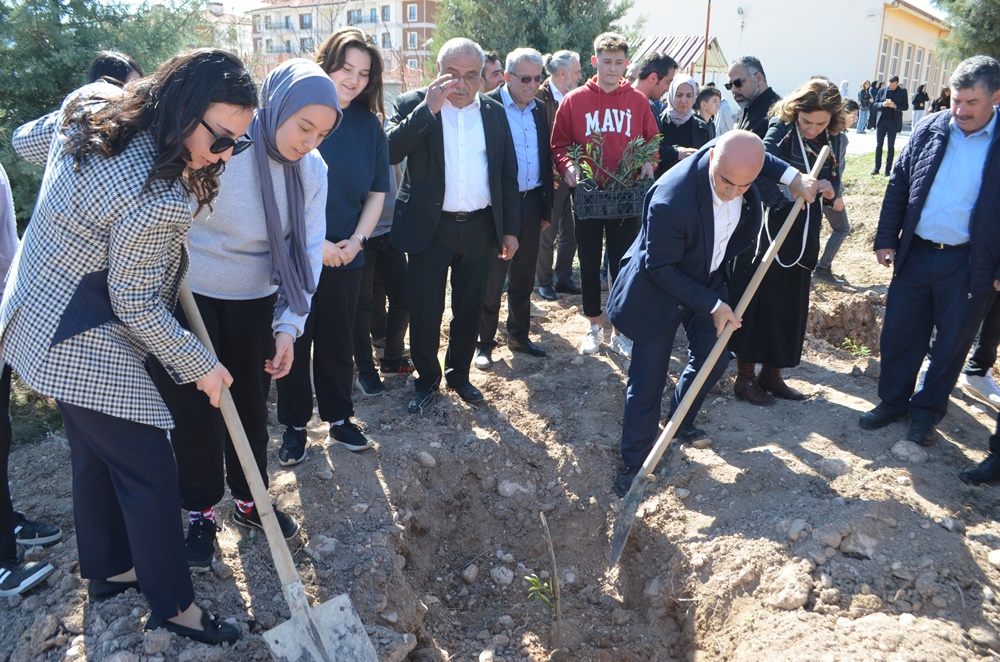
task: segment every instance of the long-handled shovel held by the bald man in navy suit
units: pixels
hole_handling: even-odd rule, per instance
[[[813,166],[810,173],[813,177],[819,176],[819,171],[823,167],[823,164],[826,163],[829,154],[830,148],[823,147],[819,153],[819,158],[816,159],[816,165]],[[739,304],[736,306],[736,310],[733,311],[737,318],[743,317],[747,306],[750,305],[750,300],[753,299],[757,288],[760,287],[760,282],[764,279],[767,268],[774,261],[775,256],[778,254],[778,249],[781,248],[785,237],[791,231],[792,224],[795,222],[795,218],[799,215],[799,212],[802,211],[804,204],[804,198],[796,198],[792,211],[789,212],[788,218],[785,219],[784,225],[781,226],[781,230],[778,232],[778,236],[774,238],[771,246],[764,254],[764,259],[757,266],[757,271],[754,272],[753,278],[750,279],[750,284],[747,286],[746,292],[743,293]],[[729,338],[733,335],[733,331],[735,331],[733,325],[726,324],[726,328],[722,330],[722,335],[715,341],[715,346],[712,347],[712,351],[705,360],[705,364],[702,365],[701,370],[694,376],[694,381],[691,382],[691,386],[688,388],[687,393],[684,394],[684,398],[677,406],[677,410],[670,417],[670,420],[667,421],[667,427],[660,433],[660,438],[656,440],[656,445],[653,446],[653,449],[646,457],[646,461],[642,463],[639,473],[632,480],[632,487],[629,488],[628,494],[622,500],[621,512],[618,514],[617,519],[615,519],[615,527],[611,536],[611,562],[608,564],[609,570],[615,567],[615,564],[618,563],[618,558],[622,554],[622,550],[625,549],[625,541],[628,540],[628,534],[632,531],[632,523],[635,521],[635,514],[639,510],[639,504],[642,503],[642,493],[649,482],[649,474],[653,473],[657,462],[660,461],[660,457],[667,450],[670,440],[674,438],[677,428],[680,427],[681,421],[684,420],[684,416],[691,408],[691,403],[694,402],[698,391],[705,383],[705,380],[708,379],[708,374],[712,371],[715,363],[719,360],[719,356],[722,355],[723,350],[725,350],[726,345],[729,343]]]

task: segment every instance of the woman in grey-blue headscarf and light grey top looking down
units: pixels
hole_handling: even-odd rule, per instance
[[[198,216],[191,229],[188,281],[233,375],[233,401],[265,485],[267,393],[271,379],[293,364],[321,267],[327,168],[316,147],[339,121],[336,87],[318,66],[295,59],[277,67],[261,88],[253,143],[237,143],[234,151],[248,149],[246,156],[230,163],[212,213]],[[180,309],[176,314],[187,326]],[[309,365],[308,347],[299,350],[299,361]],[[236,524],[262,528],[260,515],[221,413],[191,385],[174,384],[162,371],[157,381],[177,421],[171,440],[188,511],[188,564],[205,572],[225,484]],[[286,539],[298,532],[294,517],[277,508],[274,514]]]

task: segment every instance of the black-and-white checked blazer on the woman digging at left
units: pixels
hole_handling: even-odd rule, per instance
[[[0,303],[3,359],[39,393],[172,428],[146,369],[150,355],[178,383],[216,364],[171,314],[188,264],[187,191],[163,181],[142,191],[157,154],[145,132],[77,171],[61,124],[57,111],[12,141],[45,175]]]

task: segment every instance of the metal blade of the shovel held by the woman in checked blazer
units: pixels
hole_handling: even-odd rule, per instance
[[[292,618],[264,633],[276,660],[330,660],[331,662],[378,662],[365,626],[346,593],[311,607],[308,620]],[[317,633],[319,641],[315,636]]]

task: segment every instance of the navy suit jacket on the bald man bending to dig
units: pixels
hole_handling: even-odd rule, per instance
[[[668,170],[646,194],[639,236],[622,258],[607,307],[611,322],[635,342],[651,342],[676,328],[686,309],[709,315],[716,301],[728,298],[725,288],[709,286],[715,212],[708,149],[714,144]],[[786,165],[765,159],[761,176],[779,179]],[[727,279],[733,258],[753,244],[760,219],[760,194],[751,186],[719,267]]]

